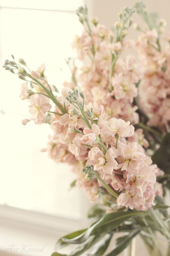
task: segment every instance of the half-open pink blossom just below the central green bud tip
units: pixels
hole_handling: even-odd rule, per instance
[[[92,124],[92,129],[84,128],[84,136],[81,138],[83,144],[92,145],[96,141],[96,137],[100,134],[98,125]]]

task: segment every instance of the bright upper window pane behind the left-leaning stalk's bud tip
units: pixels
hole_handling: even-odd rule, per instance
[[[71,76],[65,58],[73,55],[71,42],[82,29],[79,23],[73,13],[1,9],[1,58],[8,59],[10,54],[16,59],[22,57],[33,70],[45,63],[49,82],[61,88]],[[18,97],[23,81],[4,70],[0,77],[3,110],[27,115],[27,104]]]

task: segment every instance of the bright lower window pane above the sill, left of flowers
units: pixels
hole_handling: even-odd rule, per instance
[[[4,115],[0,203],[80,218],[80,191],[69,190],[75,176],[66,164],[56,164],[40,149],[46,145],[50,127],[33,122],[21,124],[21,116]],[[11,130],[12,126],[12,130]],[[11,142],[11,143],[10,143]],[[5,197],[5,200],[4,200]]]

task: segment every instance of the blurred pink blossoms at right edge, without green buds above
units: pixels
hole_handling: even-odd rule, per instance
[[[137,42],[144,67],[139,95],[148,124],[163,126],[170,121],[170,36],[166,36],[168,45],[160,51],[156,48],[157,40],[158,33],[153,29],[143,33]]]

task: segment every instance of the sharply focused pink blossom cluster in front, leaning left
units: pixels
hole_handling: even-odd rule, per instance
[[[27,121],[34,120],[38,125],[46,122],[47,112],[52,107],[49,97],[44,95],[48,87],[51,92],[54,86],[48,84],[44,70],[42,65],[37,69],[38,73],[31,72],[31,83],[36,92],[22,84],[20,94],[22,100],[29,98],[31,103],[31,117]],[[42,90],[37,81],[46,89]],[[50,127],[54,134],[49,135],[45,149],[50,158],[72,166],[78,187],[88,193],[91,201],[99,197],[99,187],[109,186],[117,197],[118,206],[150,209],[161,187],[155,186],[158,168],[152,165],[141,146],[148,146],[142,130],[134,132],[130,122],[123,119],[105,119],[103,105],[85,105],[85,95],[83,92],[79,94],[78,89],[63,88],[62,95],[56,100],[58,105],[55,104],[54,112],[50,112]],[[86,176],[81,169],[85,170]]]

